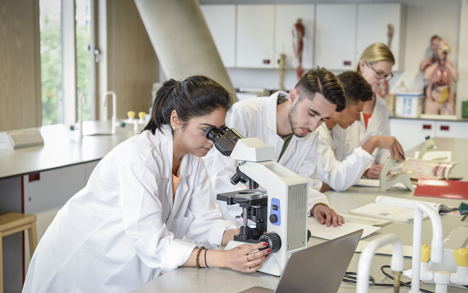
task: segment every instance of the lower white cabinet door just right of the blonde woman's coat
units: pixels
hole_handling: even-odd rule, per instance
[[[390,134],[395,136],[403,150],[409,150],[423,143],[424,137],[435,137],[436,123],[434,120],[391,118]],[[414,154],[408,154],[408,157],[412,156]]]

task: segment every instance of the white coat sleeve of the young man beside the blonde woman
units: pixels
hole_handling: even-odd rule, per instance
[[[346,141],[344,141],[346,145]],[[361,178],[373,157],[361,147],[354,149],[344,160],[336,159],[329,136],[319,131],[320,159],[317,165],[318,178],[336,191],[344,191]],[[349,153],[346,150],[345,153]]]

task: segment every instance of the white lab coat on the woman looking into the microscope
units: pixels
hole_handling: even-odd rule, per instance
[[[169,129],[146,130],[102,158],[39,241],[23,293],[128,292],[188,260],[196,245],[184,235],[221,244],[235,225],[212,202],[205,165],[192,154],[182,158],[173,203]]]

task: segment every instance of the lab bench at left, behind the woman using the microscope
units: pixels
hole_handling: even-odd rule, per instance
[[[144,126],[141,126],[143,128]],[[83,122],[80,141],[78,130],[65,125],[39,128],[43,146],[0,150],[0,213],[24,212],[37,215],[37,240],[44,235],[57,211],[81,188],[94,167],[117,144],[136,133],[133,126],[117,127],[110,134],[110,121]],[[3,238],[5,292],[20,292],[29,265],[28,243],[19,233]],[[23,265],[21,264],[24,259]]]

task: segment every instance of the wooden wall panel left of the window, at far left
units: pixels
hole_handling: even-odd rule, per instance
[[[41,126],[39,1],[0,0],[0,131]]]

